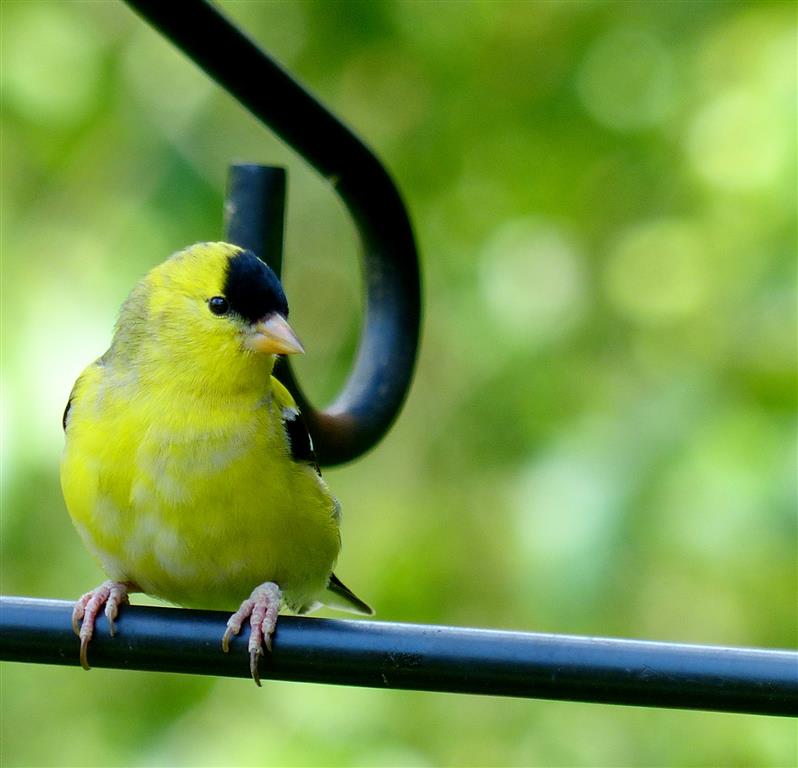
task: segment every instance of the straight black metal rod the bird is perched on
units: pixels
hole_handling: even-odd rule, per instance
[[[78,665],[72,603],[0,598],[0,659]],[[249,677],[247,634],[222,653],[228,614],[126,606],[105,618],[96,667]],[[798,653],[485,629],[281,617],[261,675],[371,688],[798,716]]]

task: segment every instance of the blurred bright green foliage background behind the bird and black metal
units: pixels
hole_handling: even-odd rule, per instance
[[[418,374],[328,470],[385,620],[796,647],[790,2],[223,2],[394,174]],[[190,19],[187,19],[190,23]],[[229,51],[235,56],[235,51]],[[102,578],[61,413],[137,278],[289,169],[316,402],[357,343],[331,189],[116,2],[2,2],[2,592]],[[795,764],[775,718],[5,664],[3,766]]]

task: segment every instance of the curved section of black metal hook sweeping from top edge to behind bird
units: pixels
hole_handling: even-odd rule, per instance
[[[420,329],[418,256],[410,220],[385,168],[352,131],[205,0],[125,0],[327,178],[362,241],[365,319],[343,391],[316,410],[291,383],[319,461],[371,448],[404,402]]]

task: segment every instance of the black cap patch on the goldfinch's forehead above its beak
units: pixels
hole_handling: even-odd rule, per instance
[[[230,257],[223,291],[230,309],[250,323],[271,312],[288,317],[288,301],[279,278],[252,251]]]

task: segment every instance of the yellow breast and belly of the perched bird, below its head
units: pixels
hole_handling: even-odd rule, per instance
[[[109,575],[183,605],[234,607],[274,581],[299,607],[340,548],[335,501],[291,461],[276,387],[225,397],[149,386],[101,364],[76,386],[61,482]]]

